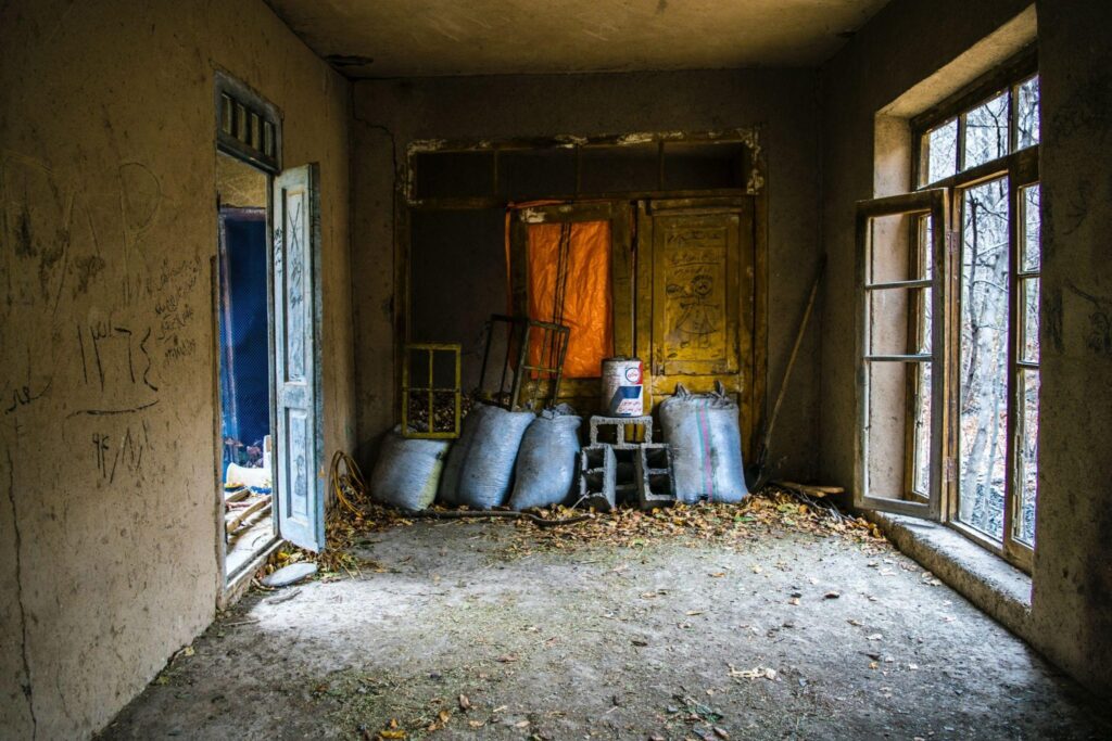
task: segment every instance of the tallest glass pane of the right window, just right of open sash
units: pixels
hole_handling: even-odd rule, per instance
[[[1007,443],[1007,180],[962,198],[959,518],[1004,531]]]

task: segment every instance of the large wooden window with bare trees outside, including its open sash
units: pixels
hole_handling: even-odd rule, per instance
[[[915,192],[858,207],[858,499],[946,521],[1030,570],[1041,264],[1033,54],[911,128]]]

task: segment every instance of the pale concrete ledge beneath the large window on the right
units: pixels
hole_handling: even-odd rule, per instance
[[[900,514],[865,517],[896,548],[1021,638],[1031,617],[1031,577],[960,532]]]

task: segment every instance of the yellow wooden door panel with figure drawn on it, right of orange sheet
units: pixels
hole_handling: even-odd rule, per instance
[[[753,199],[642,201],[637,219],[636,352],[655,404],[721,382],[738,401],[753,453],[756,327]]]

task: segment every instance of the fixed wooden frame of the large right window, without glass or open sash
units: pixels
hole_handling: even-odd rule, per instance
[[[1022,380],[1024,372],[1029,370],[1040,371],[1039,362],[1027,362],[1022,357],[1022,343],[1025,332],[1023,324],[1023,310],[1021,304],[1020,289],[1024,281],[1041,274],[1042,263],[1037,270],[1024,271],[1022,262],[1023,240],[1025,239],[1025,210],[1022,204],[1022,193],[1025,189],[1037,186],[1039,179],[1039,153],[1041,142],[1017,149],[1019,146],[1019,89],[1030,81],[1032,77],[1039,74],[1037,56],[1033,47],[1025,49],[1016,57],[1012,58],[991,74],[973,82],[971,86],[959,91],[939,106],[913,118],[911,123],[911,134],[913,142],[912,158],[912,182],[915,183],[914,192],[925,192],[934,189],[945,189],[950,196],[950,214],[946,228],[952,230],[953,243],[950,248],[952,261],[949,281],[947,296],[944,302],[947,310],[952,312],[954,322],[952,331],[947,337],[947,360],[945,372],[950,377],[949,388],[952,394],[960,394],[959,372],[961,368],[961,309],[962,309],[962,286],[961,286],[961,263],[962,263],[962,230],[964,227],[964,193],[971,188],[1006,178],[1007,204],[1009,204],[1009,271],[1007,271],[1007,362],[1006,362],[1006,450],[1004,452],[1004,512],[1003,512],[1003,534],[1001,540],[977,530],[959,519],[960,509],[960,454],[959,430],[960,412],[957,410],[957,397],[946,399],[950,424],[945,430],[945,455],[941,461],[933,460],[932,452],[932,477],[936,468],[942,468],[947,473],[944,477],[944,491],[942,492],[943,512],[942,521],[951,528],[966,535],[986,550],[1001,555],[1009,562],[1015,564],[1026,572],[1031,572],[1034,545],[1027,544],[1015,537],[1015,527],[1019,521],[1019,510],[1022,507],[1022,497],[1019,493],[1022,489],[1020,475],[1022,465],[1020,461],[1022,444],[1020,435],[1023,433],[1022,419]],[[966,116],[981,104],[999,97],[1003,92],[1009,92],[1009,152],[1002,157],[981,163],[979,166],[963,170],[965,160],[965,121]],[[929,171],[931,131],[947,124],[950,121],[957,121],[955,172],[954,174],[933,181],[925,182],[925,174]],[[1041,139],[1041,137],[1040,137]],[[917,243],[917,234],[912,239]],[[1040,294],[1041,296],[1041,294]],[[1040,378],[1041,381],[1041,378]],[[909,384],[909,404],[911,403],[912,389]],[[912,419],[909,418],[907,435],[911,440]],[[913,455],[913,448],[912,455]],[[913,461],[905,461],[911,471]],[[1037,490],[1036,490],[1037,495]]]

